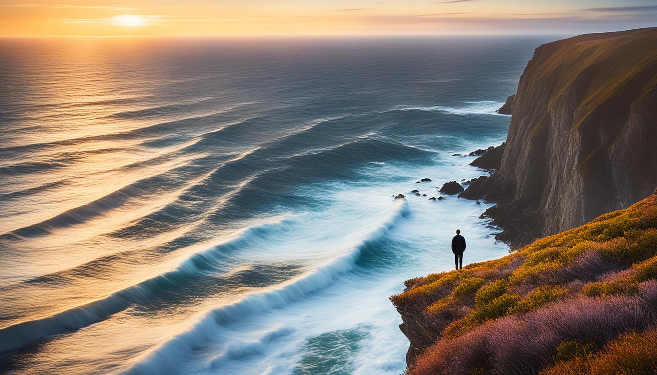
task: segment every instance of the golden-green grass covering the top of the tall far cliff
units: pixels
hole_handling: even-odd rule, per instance
[[[572,124],[576,129],[603,103],[640,98],[657,85],[657,48],[649,47],[655,45],[657,28],[585,34],[547,43],[536,49],[520,87],[527,83],[547,90],[545,110],[576,92],[578,106]],[[524,100],[533,100],[523,93],[518,90],[520,107]]]

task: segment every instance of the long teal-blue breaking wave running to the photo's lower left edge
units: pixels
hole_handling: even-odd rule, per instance
[[[101,322],[111,315],[127,309],[133,303],[143,301],[162,290],[170,288],[172,284],[176,284],[178,281],[193,278],[204,270],[212,269],[227,250],[242,246],[254,237],[269,234],[285,222],[282,220],[245,229],[219,245],[194,253],[181,261],[171,271],[118,290],[106,298],[49,317],[28,320],[2,328],[0,329],[0,353],[14,351],[37,340]]]

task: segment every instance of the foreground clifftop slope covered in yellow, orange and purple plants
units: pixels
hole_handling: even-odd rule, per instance
[[[657,194],[507,257],[407,280],[416,374],[657,373]],[[454,353],[458,353],[454,356]]]

